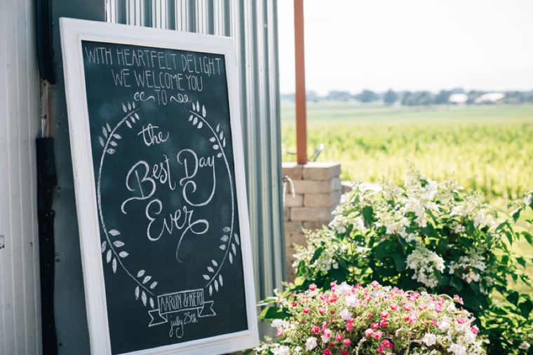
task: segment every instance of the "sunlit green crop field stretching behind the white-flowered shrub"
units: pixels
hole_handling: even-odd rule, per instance
[[[293,103],[282,103],[281,122],[282,146],[293,151]],[[533,105],[309,103],[307,136],[308,155],[325,144],[318,161],[340,162],[343,180],[402,183],[410,162],[437,181],[454,176],[500,209],[533,188]]]

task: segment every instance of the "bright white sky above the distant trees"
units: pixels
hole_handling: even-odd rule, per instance
[[[278,0],[281,93],[294,9]],[[533,90],[533,0],[304,0],[306,90]]]

